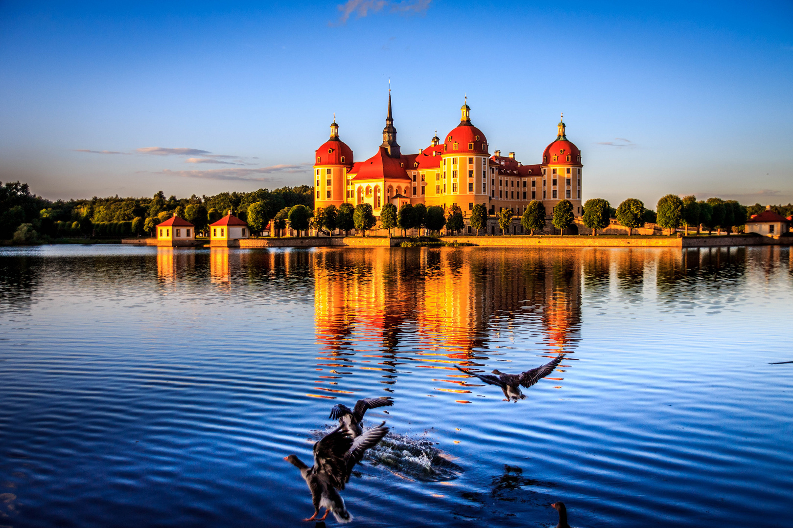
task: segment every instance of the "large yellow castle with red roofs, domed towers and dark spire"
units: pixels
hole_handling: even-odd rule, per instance
[[[331,137],[316,150],[314,175],[315,207],[339,207],[342,203],[369,203],[379,216],[385,203],[397,209],[404,203],[423,203],[445,210],[457,205],[467,217],[477,203],[489,214],[504,208],[523,215],[536,199],[551,215],[562,199],[573,203],[581,214],[581,152],[565,136],[560,120],[556,139],[542,152],[542,163],[523,165],[515,153],[491,156],[485,134],[471,123],[467,97],[460,108],[460,124],[443,140],[437,134],[418,154],[402,154],[397,128],[389,109],[383,128],[383,142],[377,153],[365,161],[354,161],[353,152],[339,139],[339,125],[331,123]]]

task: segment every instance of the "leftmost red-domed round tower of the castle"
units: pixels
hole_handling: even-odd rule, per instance
[[[339,139],[335,116],[331,123],[331,139],[314,154],[314,208],[335,205],[347,198],[347,171],[352,168],[352,149]]]

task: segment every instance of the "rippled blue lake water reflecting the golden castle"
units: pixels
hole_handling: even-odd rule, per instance
[[[791,286],[779,248],[2,249],[0,525],[314,526],[283,457],[391,396],[353,526],[793,526]],[[558,351],[517,404],[450,370]]]

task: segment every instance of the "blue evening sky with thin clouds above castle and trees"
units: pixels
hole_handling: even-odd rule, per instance
[[[542,161],[561,112],[583,198],[793,201],[793,2],[0,1],[0,180],[48,199],[311,184],[356,161],[389,79],[405,153],[456,127]]]

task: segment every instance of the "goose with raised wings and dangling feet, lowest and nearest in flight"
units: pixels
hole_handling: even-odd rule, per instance
[[[347,511],[344,499],[339,495],[339,490],[344,489],[350,481],[350,474],[355,464],[361,462],[364,451],[378,442],[389,432],[388,427],[383,427],[385,422],[377,427],[367,429],[358,438],[352,439],[342,427],[324,435],[319,442],[314,444],[314,465],[308,467],[297,455],[290,454],[284,460],[300,469],[300,473],[311,490],[314,503],[314,515],[305,521],[324,521],[328,511],[338,522],[350,522],[352,515]],[[320,514],[320,507],[325,508],[325,515],[316,519]]]

